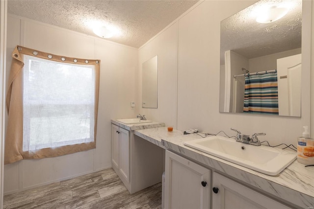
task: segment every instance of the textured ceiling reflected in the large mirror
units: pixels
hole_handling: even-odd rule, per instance
[[[278,21],[256,22],[259,7],[278,2],[282,0],[260,0],[221,22],[221,64],[228,50],[250,59],[301,48],[302,0],[291,0],[294,6]]]

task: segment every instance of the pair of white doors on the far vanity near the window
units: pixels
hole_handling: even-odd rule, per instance
[[[130,131],[111,124],[111,162],[123,181],[130,182]]]

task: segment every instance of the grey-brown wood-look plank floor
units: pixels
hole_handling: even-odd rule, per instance
[[[161,183],[130,194],[110,168],[6,195],[3,209],[161,209]]]

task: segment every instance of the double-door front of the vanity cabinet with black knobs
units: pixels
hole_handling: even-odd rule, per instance
[[[290,209],[168,150],[164,193],[165,209]]]

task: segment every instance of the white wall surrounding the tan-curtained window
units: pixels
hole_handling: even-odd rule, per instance
[[[38,22],[8,16],[7,76],[16,45],[70,57],[100,59],[96,149],[71,155],[21,160],[4,166],[4,193],[52,183],[111,167],[112,118],[135,116],[138,49]]]

